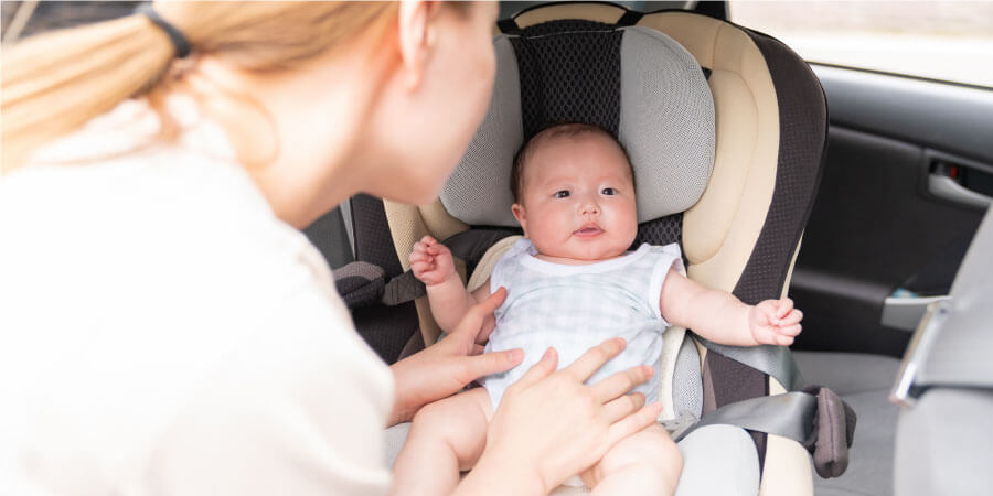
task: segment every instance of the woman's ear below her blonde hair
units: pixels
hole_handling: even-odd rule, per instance
[[[424,78],[425,65],[434,41],[430,20],[435,2],[403,0],[399,4],[397,29],[399,32],[401,57],[407,89],[416,89]]]

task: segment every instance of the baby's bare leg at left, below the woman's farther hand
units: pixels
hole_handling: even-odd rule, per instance
[[[490,395],[483,388],[421,408],[393,465],[391,494],[451,494],[459,472],[472,468],[482,454],[492,416]]]

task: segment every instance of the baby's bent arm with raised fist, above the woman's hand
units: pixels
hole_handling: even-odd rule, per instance
[[[427,287],[431,314],[446,333],[455,330],[470,306],[490,295],[489,281],[470,294],[456,272],[451,251],[430,236],[414,244],[409,260],[414,277]],[[487,323],[484,327],[490,325]],[[487,328],[480,333],[488,334]]]

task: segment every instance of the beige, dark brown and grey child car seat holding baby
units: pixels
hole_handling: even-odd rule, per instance
[[[353,218],[385,216],[388,237],[396,250],[395,257],[388,258],[398,260],[404,270],[409,269],[407,255],[414,242],[430,234],[446,240],[453,254],[462,258],[459,269],[470,289],[484,280],[499,250],[509,245],[505,236],[514,231],[508,200],[509,174],[502,172],[509,170],[510,158],[524,139],[551,122],[586,121],[620,134],[632,157],[639,182],[637,241],[680,242],[692,279],[730,291],[746,303],[786,294],[826,143],[824,95],[802,60],[767,35],[684,11],[641,15],[602,3],[555,3],[502,20],[499,26],[502,34],[496,36],[498,83],[493,101],[439,201],[421,206],[384,202],[380,211],[377,203],[370,204],[370,198],[362,198],[370,207],[366,214],[356,212],[355,203],[352,204]],[[622,46],[624,40],[636,37],[654,39],[659,50],[671,48],[676,58],[680,53],[687,54],[679,60],[681,71],[692,68],[703,82],[702,87],[713,95],[708,95],[705,104],[709,107],[697,106],[695,115],[675,125],[659,121],[665,111],[670,119],[677,116],[671,111],[672,106],[700,100],[686,97],[644,105],[642,91],[679,94],[681,90],[666,87],[659,91],[660,80],[666,85],[684,82],[674,77],[655,78],[647,84],[649,79],[621,77],[636,71],[632,66],[649,74],[668,67],[645,62],[652,58],[651,53],[631,52],[629,46]],[[622,53],[624,50],[631,53]],[[645,108],[634,112],[638,117],[631,117],[630,109],[642,106]],[[707,112],[711,112],[709,125],[701,118]],[[515,120],[516,126],[505,126]],[[632,133],[638,136],[636,141],[640,144],[626,141]],[[680,152],[708,163],[687,171],[679,166],[680,161],[665,161]],[[654,175],[645,176],[639,162],[659,159],[666,165],[656,166]],[[491,163],[506,163],[506,169],[484,166]],[[666,204],[664,207],[645,200],[649,196],[645,193],[652,190],[645,188],[645,184],[659,185],[655,193],[662,193],[662,198],[656,200]],[[375,267],[378,263],[363,260],[360,238],[370,236],[360,235],[357,220],[354,225],[360,262],[335,274],[346,301],[351,298],[354,306],[367,309],[370,300],[355,295],[374,294],[375,299],[409,309],[406,300],[423,294],[423,290],[418,291],[409,272],[405,277],[394,267],[384,277],[385,270]],[[377,236],[384,238],[383,233]],[[391,279],[388,283],[387,279]],[[375,282],[375,288],[370,289],[370,281]],[[418,332],[407,343],[408,349],[419,342],[430,345],[439,335],[426,299],[417,298],[414,308]],[[356,325],[367,334],[360,319]],[[382,331],[374,334],[378,333]],[[686,435],[690,432],[686,423],[701,413],[704,420],[690,428],[696,431],[686,435],[686,442],[694,435],[698,439],[711,435],[704,432],[707,428],[722,427],[706,424],[747,428],[748,444],[756,461],[751,494],[759,484],[761,494],[767,495],[812,494],[808,449],[815,452],[815,461],[816,456],[823,459],[818,463],[822,475],[839,475],[844,471],[854,414],[845,411],[830,391],[787,393],[801,382],[787,348],[736,348],[707,343],[697,336],[683,341],[684,330],[671,328],[666,333],[666,342],[673,348],[663,356],[661,368],[671,374],[673,381],[669,390],[663,390],[663,401],[668,401],[670,414],[665,420],[674,421],[677,428],[674,435]],[[778,395],[776,398],[782,401],[768,401],[770,395]],[[797,398],[802,401],[792,401]],[[786,409],[797,407],[805,413],[790,416],[777,410],[783,405]],[[736,406],[746,408],[739,408],[730,417],[714,416]],[[778,413],[770,413],[772,410]],[[690,413],[691,418],[673,418],[677,412]],[[782,429],[769,427],[770,418],[781,420],[784,416],[793,417],[790,429],[798,432],[788,435]],[[749,419],[759,420],[749,423]],[[819,439],[818,429],[810,422],[833,427],[835,432],[841,432],[841,438]],[[687,468],[713,455],[715,449],[725,448],[713,443],[727,441],[719,435],[706,439],[714,440],[703,443],[702,451],[709,450],[708,455],[691,456],[684,451]],[[693,486],[692,482],[684,484],[686,472],[680,483],[680,494]],[[747,494],[748,484],[744,486]],[[578,489],[558,493],[569,490]]]

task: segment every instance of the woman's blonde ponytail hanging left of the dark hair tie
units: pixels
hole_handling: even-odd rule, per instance
[[[151,88],[175,53],[166,32],[145,15],[41,34],[4,52],[2,172]]]

